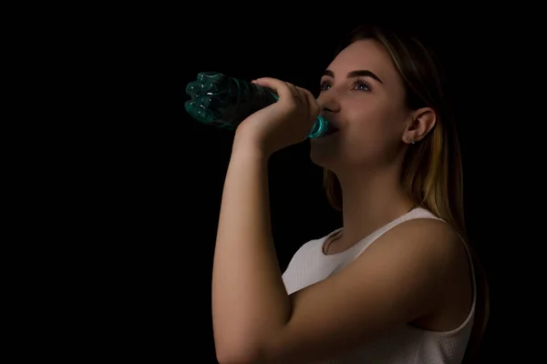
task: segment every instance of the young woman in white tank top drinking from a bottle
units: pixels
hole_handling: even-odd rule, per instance
[[[238,127],[216,241],[212,319],[230,363],[460,363],[486,323],[468,245],[458,139],[435,58],[417,39],[356,29],[321,94],[255,80],[279,101]],[[300,248],[284,274],[270,226],[267,162],[311,140],[343,227]],[[469,351],[469,350],[468,350]]]

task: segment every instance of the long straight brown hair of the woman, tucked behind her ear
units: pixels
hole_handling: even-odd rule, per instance
[[[490,295],[478,255],[469,244],[463,215],[462,167],[458,134],[449,97],[441,85],[439,62],[416,37],[398,34],[377,25],[358,26],[340,50],[357,40],[374,39],[384,45],[402,77],[408,106],[431,107],[437,114],[433,129],[419,143],[408,148],[401,183],[415,206],[427,208],[454,227],[470,249],[475,270],[476,311],[466,361],[479,348],[486,329]],[[325,169],[324,182],[329,203],[342,209],[342,189],[335,174]]]

